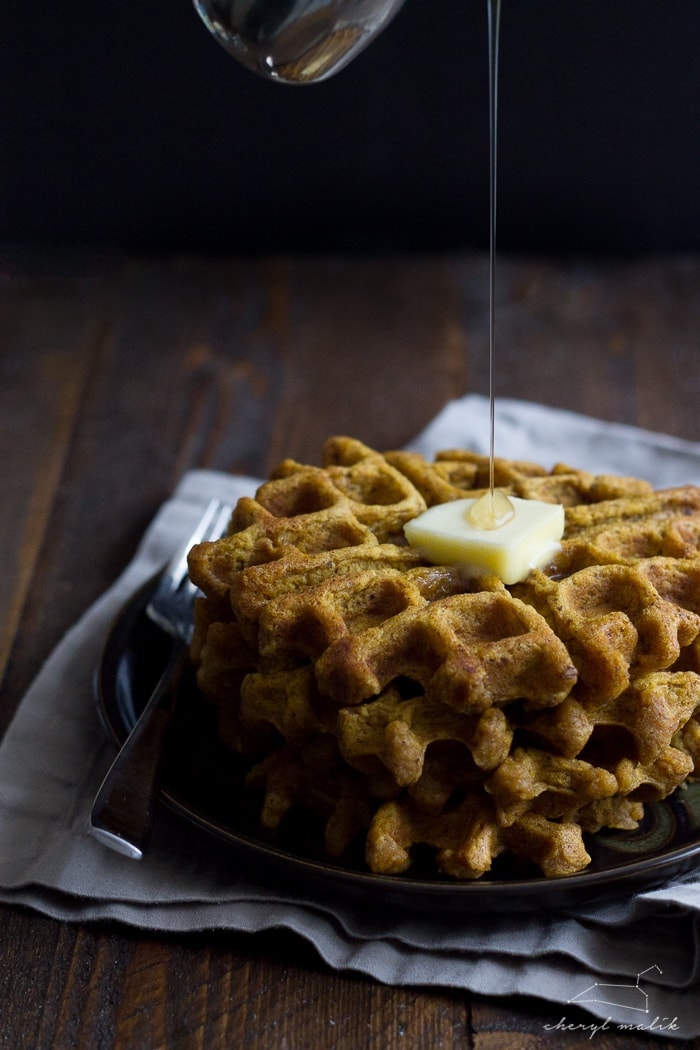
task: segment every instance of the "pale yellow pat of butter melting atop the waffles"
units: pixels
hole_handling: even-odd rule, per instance
[[[434,565],[465,565],[515,584],[558,550],[565,519],[559,503],[509,499],[515,513],[499,528],[480,528],[469,520],[475,500],[454,500],[407,522],[406,539]]]

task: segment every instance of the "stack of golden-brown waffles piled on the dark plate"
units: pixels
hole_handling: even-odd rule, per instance
[[[500,857],[556,877],[698,774],[700,490],[508,460],[495,484],[566,508],[551,564],[510,587],[404,539],[487,487],[461,450],[334,438],[193,549],[199,692],[261,827],[313,815],[326,854],[361,842],[377,873],[427,850],[453,878]]]

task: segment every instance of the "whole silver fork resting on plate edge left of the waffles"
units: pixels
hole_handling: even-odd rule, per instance
[[[141,860],[151,833],[163,738],[172,712],[174,686],[187,663],[192,638],[192,603],[197,589],[188,575],[187,554],[196,543],[220,537],[230,517],[230,506],[211,501],[196,528],[164,569],[146,607],[149,618],[172,638],[172,651],[148,704],[103,780],[88,819],[88,831],[96,839],[132,860]]]

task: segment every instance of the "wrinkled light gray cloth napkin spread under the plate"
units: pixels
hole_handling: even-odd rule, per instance
[[[451,402],[411,447],[426,455],[446,447],[488,452],[488,413],[481,397]],[[525,402],[499,403],[496,450],[660,486],[700,483],[700,444]],[[188,474],[132,563],[38,674],[0,748],[0,899],[58,919],[118,920],[149,930],[284,927],[330,966],[387,984],[538,996],[551,1004],[544,1027],[553,1034],[567,1025],[580,1030],[575,1005],[598,1018],[591,1020],[591,1035],[600,1026],[613,1034],[699,1034],[700,869],[661,889],[559,915],[399,912],[330,903],[281,881],[256,882],[245,861],[165,808],[141,862],[86,834],[91,800],[113,757],[93,699],[109,625],[212,494],[235,500],[256,484]],[[643,998],[645,1009],[630,1005],[630,996]]]

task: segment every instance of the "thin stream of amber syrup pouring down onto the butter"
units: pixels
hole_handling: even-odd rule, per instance
[[[501,0],[486,0],[489,42],[489,488],[471,507],[469,520],[479,528],[501,528],[515,516],[505,492],[495,488],[495,227],[499,128],[499,38]]]

